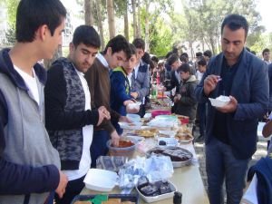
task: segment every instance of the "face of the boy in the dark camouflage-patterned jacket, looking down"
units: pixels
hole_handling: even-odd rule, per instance
[[[70,58],[75,68],[81,72],[86,73],[92,66],[92,63],[98,53],[98,48],[87,46],[83,43],[78,44],[76,47],[70,44]]]

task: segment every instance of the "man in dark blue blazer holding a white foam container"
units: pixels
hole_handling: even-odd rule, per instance
[[[206,170],[211,204],[239,203],[248,161],[257,149],[257,123],[268,108],[267,65],[244,48],[248,22],[228,15],[221,25],[222,53],[210,59],[207,72],[195,90],[199,102],[208,102]],[[214,107],[209,98],[229,96]]]

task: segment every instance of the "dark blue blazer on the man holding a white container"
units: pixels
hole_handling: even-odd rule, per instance
[[[199,102],[208,102],[207,137],[206,144],[213,137],[213,124],[216,109],[210,105],[209,97],[219,96],[219,86],[206,96],[203,92],[205,78],[210,74],[220,75],[223,63],[223,53],[209,61],[207,72],[195,89]],[[234,76],[230,95],[238,101],[236,112],[227,113],[227,129],[229,144],[236,158],[249,159],[256,151],[257,123],[268,108],[268,77],[267,65],[255,55],[244,49],[241,61]]]

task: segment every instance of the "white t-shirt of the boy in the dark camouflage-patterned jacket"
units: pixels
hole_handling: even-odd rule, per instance
[[[81,83],[83,84],[83,90],[85,94],[85,111],[91,110],[91,95],[88,87],[88,83],[84,78],[84,74],[75,69],[78,74]],[[85,125],[83,127],[83,154],[80,160],[79,170],[63,170],[63,173],[67,175],[68,180],[77,180],[82,178],[91,167],[91,154],[90,147],[92,144],[93,125]]]

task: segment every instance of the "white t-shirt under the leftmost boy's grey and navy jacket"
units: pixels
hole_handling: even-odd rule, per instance
[[[33,73],[34,76],[31,76],[28,73],[24,73],[24,71],[21,70],[16,65],[14,65],[14,67],[15,67],[15,71],[17,73],[19,73],[20,76],[22,76],[22,78],[24,79],[24,83],[26,84],[26,86],[27,86],[27,88],[29,90],[28,94],[39,105],[40,104],[40,94],[39,94],[39,91],[38,91],[38,84],[37,84],[37,79],[36,79],[36,74],[34,72],[34,69],[32,68],[32,73]]]

